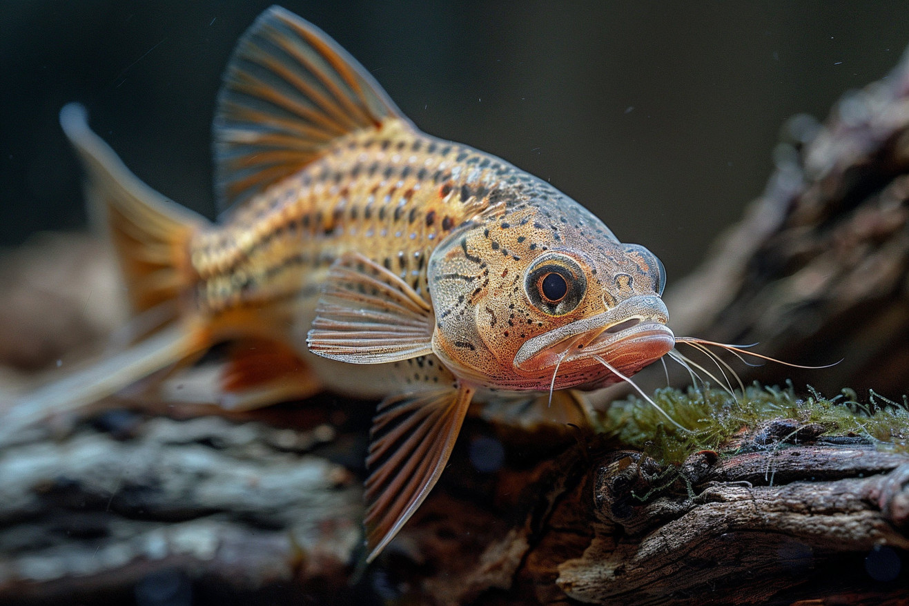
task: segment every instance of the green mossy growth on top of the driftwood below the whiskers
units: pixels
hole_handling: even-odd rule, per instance
[[[878,448],[909,452],[909,403],[887,400],[870,392],[865,402],[844,389],[833,398],[811,387],[797,395],[793,386],[765,387],[757,383],[735,397],[721,389],[674,388],[657,390],[656,402],[675,422],[675,427],[652,404],[637,397],[614,402],[601,420],[614,438],[643,450],[665,463],[683,462],[692,452],[724,451],[736,434],[774,419],[817,423],[823,436],[856,436]],[[725,450],[729,450],[726,448]]]

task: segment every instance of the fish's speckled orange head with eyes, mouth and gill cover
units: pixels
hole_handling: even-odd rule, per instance
[[[434,352],[513,391],[620,381],[674,347],[663,263],[573,201],[464,225],[430,258]]]

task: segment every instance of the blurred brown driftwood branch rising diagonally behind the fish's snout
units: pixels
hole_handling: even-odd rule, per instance
[[[747,379],[909,392],[909,61],[795,116],[776,171],[699,270],[667,293],[674,330],[833,369],[767,364]]]

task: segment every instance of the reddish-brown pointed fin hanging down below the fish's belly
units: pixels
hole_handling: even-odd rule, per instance
[[[373,421],[366,464],[366,544],[373,561],[424,502],[445,469],[473,390],[387,398]]]

